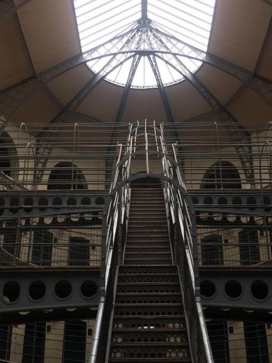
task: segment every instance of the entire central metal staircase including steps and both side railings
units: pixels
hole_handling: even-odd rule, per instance
[[[213,362],[199,297],[195,215],[170,146],[171,154],[163,125],[155,123],[130,125],[126,145],[119,145],[104,209],[90,363]],[[133,173],[143,156],[146,173]],[[160,187],[133,185],[151,177]]]

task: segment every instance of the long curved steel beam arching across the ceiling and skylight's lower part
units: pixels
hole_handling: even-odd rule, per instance
[[[199,50],[199,52],[202,52]],[[192,57],[190,55],[184,55],[179,52],[169,52],[169,51],[159,51],[159,50],[127,50],[123,52],[113,52],[105,55],[100,55],[98,57],[93,57],[91,59],[86,59],[89,57],[89,51],[84,52],[83,54],[78,54],[77,56],[68,59],[61,64],[57,64],[56,66],[50,68],[43,73],[39,73],[36,77],[29,77],[22,82],[18,82],[12,87],[8,87],[0,91],[0,115],[3,114],[3,117],[6,121],[2,122],[0,126],[0,131],[6,127],[7,122],[9,121],[10,117],[20,110],[22,105],[26,103],[33,94],[36,93],[39,89],[43,88],[45,84],[49,83],[50,81],[54,80],[54,78],[59,77],[59,75],[70,71],[71,69],[80,66],[82,64],[86,64],[90,60],[100,59],[103,57],[114,56],[118,54],[138,54],[138,55],[145,55],[145,54],[172,54],[174,56],[182,56],[187,57],[188,59],[195,59],[202,61],[204,64],[209,64],[214,66],[221,71],[236,77],[236,79],[243,82],[243,88],[249,87],[250,89],[254,90],[266,103],[272,105],[272,81],[267,80],[264,77],[260,77],[254,75],[250,71],[245,70],[239,66],[236,66],[224,59],[220,59],[219,57],[210,54],[209,52],[202,52],[204,54],[203,59],[197,59],[197,57]]]

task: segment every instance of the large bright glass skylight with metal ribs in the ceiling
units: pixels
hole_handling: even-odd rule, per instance
[[[94,73],[125,87],[174,84],[202,64],[215,0],[74,0]],[[187,56],[187,57],[186,57]]]

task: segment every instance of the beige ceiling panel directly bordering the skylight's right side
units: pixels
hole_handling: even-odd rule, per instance
[[[217,0],[209,52],[253,71],[271,15],[261,0]]]

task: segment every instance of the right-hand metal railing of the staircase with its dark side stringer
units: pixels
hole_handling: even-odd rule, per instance
[[[199,271],[197,263],[197,229],[195,211],[186,191],[176,153],[172,145],[173,158],[163,142],[163,126],[160,126],[160,145],[163,152],[163,173],[168,178],[164,182],[169,230],[172,232],[174,263],[179,269],[184,313],[188,326],[188,338],[193,362],[213,362],[209,336],[200,299]],[[174,181],[180,188],[178,188]]]

